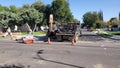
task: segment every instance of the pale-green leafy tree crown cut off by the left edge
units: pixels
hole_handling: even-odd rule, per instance
[[[12,27],[18,25],[19,17],[16,13],[10,13],[7,11],[0,12],[0,23],[3,27]]]

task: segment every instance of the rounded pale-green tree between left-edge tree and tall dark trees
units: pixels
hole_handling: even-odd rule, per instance
[[[34,31],[36,28],[36,25],[38,23],[41,23],[43,19],[43,14],[39,13],[36,9],[34,8],[29,8],[28,10],[23,10],[20,13],[21,17],[21,22],[20,24],[25,24],[28,23],[31,29]]]

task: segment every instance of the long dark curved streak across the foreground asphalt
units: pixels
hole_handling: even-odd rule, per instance
[[[39,60],[44,60],[44,61],[47,61],[47,62],[52,62],[52,63],[57,63],[57,64],[62,64],[62,65],[67,65],[67,66],[71,66],[71,67],[76,67],[76,68],[84,68],[84,67],[81,67],[81,66],[77,66],[77,65],[73,65],[73,64],[68,64],[68,63],[64,63],[64,62],[59,62],[59,61],[54,61],[54,60],[47,60],[43,57],[41,57],[40,55],[43,54],[43,51],[44,50],[39,50],[37,52],[37,58],[36,57],[33,57],[34,59],[39,59]]]

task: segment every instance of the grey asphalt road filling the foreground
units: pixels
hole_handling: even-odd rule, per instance
[[[0,68],[120,68],[120,42],[104,40],[79,40],[72,46],[0,39]]]

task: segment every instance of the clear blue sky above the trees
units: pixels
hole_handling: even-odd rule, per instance
[[[0,0],[2,6],[9,7],[15,5],[22,7],[24,4],[32,4],[36,0]],[[53,0],[41,0],[44,4],[51,4]],[[120,12],[120,0],[68,0],[72,14],[82,22],[86,12],[103,11],[104,21],[109,21],[112,17],[117,17]]]

